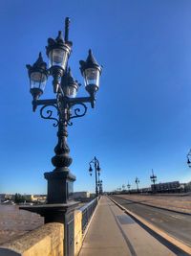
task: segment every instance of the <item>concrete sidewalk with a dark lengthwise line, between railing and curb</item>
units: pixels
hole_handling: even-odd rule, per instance
[[[102,197],[79,256],[177,255],[141,228],[109,198]]]

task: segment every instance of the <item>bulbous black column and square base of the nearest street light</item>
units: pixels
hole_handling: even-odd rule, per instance
[[[55,155],[52,163],[55,169],[51,173],[45,173],[48,180],[48,203],[67,203],[69,199],[69,189],[73,186],[75,176],[70,173],[69,166],[73,159],[69,155],[70,149],[67,144],[67,120],[69,107],[64,101],[59,105],[58,119],[58,142],[54,148]]]

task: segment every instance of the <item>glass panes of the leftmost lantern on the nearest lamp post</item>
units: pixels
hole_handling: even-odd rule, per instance
[[[40,88],[44,91],[47,82],[47,76],[41,72],[32,72],[31,74],[31,89]]]

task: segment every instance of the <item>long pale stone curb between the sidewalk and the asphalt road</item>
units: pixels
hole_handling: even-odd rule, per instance
[[[150,229],[151,231],[153,231],[154,233],[156,233],[157,235],[159,235],[159,237],[161,237],[162,239],[164,239],[165,241],[167,241],[168,243],[178,247],[180,250],[182,250],[183,252],[185,252],[188,255],[191,255],[191,247],[185,244],[182,244],[179,240],[171,237],[170,235],[168,235],[167,233],[165,233],[164,231],[160,230],[158,227],[156,227],[155,225],[151,224],[148,221],[145,221],[143,218],[139,217],[137,214],[131,212],[130,210],[127,210],[126,208],[124,208],[122,205],[120,205],[119,203],[117,203],[116,200],[114,200],[113,198],[108,197],[110,200],[112,200],[114,203],[117,204],[117,206],[122,209],[126,214],[128,214],[129,216],[131,216],[133,219],[139,221],[140,223],[142,223],[144,226],[146,226],[148,229]]]

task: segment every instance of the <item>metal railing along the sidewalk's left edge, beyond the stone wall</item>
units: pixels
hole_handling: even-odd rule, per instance
[[[82,211],[82,234],[84,234],[84,231],[96,209],[98,199],[99,198],[95,198],[80,208],[80,211]]]

